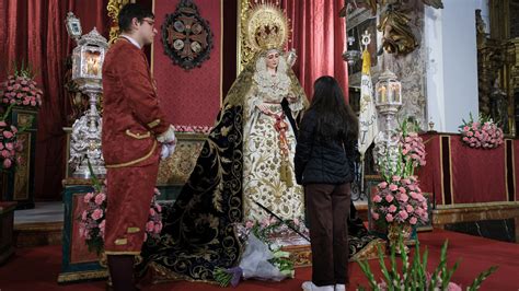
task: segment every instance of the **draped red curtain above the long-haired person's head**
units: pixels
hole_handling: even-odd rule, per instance
[[[292,34],[288,49],[297,49],[293,66],[309,100],[313,82],[321,75],[332,75],[348,100],[347,65],[342,55],[346,44],[346,22],[338,18],[344,0],[284,0],[281,7],[290,19]]]

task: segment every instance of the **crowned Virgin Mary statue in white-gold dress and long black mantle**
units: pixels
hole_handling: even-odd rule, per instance
[[[216,267],[231,268],[240,260],[237,223],[272,213],[284,220],[303,217],[303,190],[292,174],[296,128],[289,118],[297,118],[308,101],[280,49],[288,23],[278,8],[262,4],[252,10],[246,27],[256,54],[229,90],[176,201],[163,207],[160,238],[142,248],[138,270],[151,269],[155,280],[214,281]]]

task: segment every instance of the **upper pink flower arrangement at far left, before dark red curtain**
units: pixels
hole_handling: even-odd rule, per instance
[[[39,107],[42,106],[43,91],[36,85],[37,83],[32,78],[9,75],[8,81],[2,83],[1,103]]]

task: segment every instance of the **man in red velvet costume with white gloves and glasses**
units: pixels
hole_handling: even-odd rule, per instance
[[[151,11],[125,5],[122,35],[103,65],[103,156],[107,168],[105,253],[115,290],[136,290],[134,257],[145,240],[159,159],[174,150],[173,127],[165,120],[142,46],[157,30]]]

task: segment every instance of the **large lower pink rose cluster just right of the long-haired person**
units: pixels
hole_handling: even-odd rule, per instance
[[[376,221],[415,225],[429,220],[427,200],[415,176],[392,176],[391,182],[380,183],[372,201],[371,217]]]

